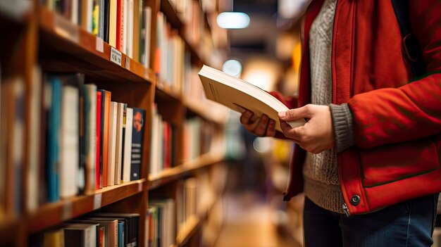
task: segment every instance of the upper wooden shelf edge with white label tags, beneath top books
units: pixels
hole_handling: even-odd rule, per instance
[[[110,60],[112,49],[110,44],[82,29],[82,27],[70,23],[69,20],[58,13],[54,13],[44,6],[39,6],[38,16],[39,27],[42,30],[63,40],[66,44],[70,44],[70,46],[75,47],[75,49],[81,49],[83,53],[86,53],[87,56],[94,59],[94,61],[99,60],[106,68],[109,68],[109,70],[115,70],[117,74],[123,73],[124,75],[125,73],[126,75],[129,75],[133,81],[154,83],[156,78],[153,70],[150,68],[144,68],[144,65],[120,51],[121,64],[118,65],[117,63],[113,63]],[[81,59],[85,59],[82,58],[81,55],[75,53],[75,49],[72,49],[73,51],[63,49],[63,51],[66,51],[66,53],[72,53],[73,56],[79,56]]]

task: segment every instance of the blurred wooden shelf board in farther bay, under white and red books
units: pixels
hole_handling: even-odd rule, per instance
[[[163,170],[163,172],[159,173],[159,175],[149,175],[149,190],[159,188],[170,182],[174,182],[182,177],[185,177],[185,175],[188,175],[194,170],[199,170],[209,165],[219,163],[223,160],[224,156],[225,147],[218,144],[211,148],[209,153],[204,153],[196,160]]]

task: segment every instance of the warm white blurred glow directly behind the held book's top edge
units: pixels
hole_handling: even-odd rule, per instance
[[[276,82],[280,79],[280,64],[267,60],[252,58],[244,65],[242,79],[260,87],[263,90],[274,90]]]

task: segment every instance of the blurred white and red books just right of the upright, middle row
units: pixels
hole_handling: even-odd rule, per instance
[[[151,117],[151,151],[149,175],[174,167],[176,132],[172,123],[163,120],[156,104]]]

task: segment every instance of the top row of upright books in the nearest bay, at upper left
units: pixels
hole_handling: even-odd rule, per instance
[[[151,8],[143,0],[40,0],[149,68]]]

